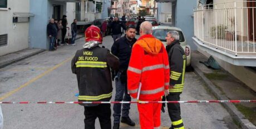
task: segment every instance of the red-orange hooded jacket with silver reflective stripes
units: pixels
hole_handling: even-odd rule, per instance
[[[168,90],[169,75],[168,54],[163,43],[151,34],[141,36],[132,48],[127,70],[130,95],[137,97],[141,82],[139,100],[156,100],[164,95],[164,89]]]

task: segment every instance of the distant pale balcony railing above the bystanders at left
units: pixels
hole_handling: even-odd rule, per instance
[[[101,13],[76,11],[75,16],[77,22],[92,22],[95,19],[100,19]]]

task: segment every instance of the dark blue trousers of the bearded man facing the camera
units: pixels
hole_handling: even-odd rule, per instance
[[[121,83],[116,81],[116,95],[115,101],[131,101],[131,96],[127,93],[127,83]],[[121,117],[121,106],[122,106],[122,117],[129,117],[130,103],[115,103],[113,110],[114,123],[120,123]]]

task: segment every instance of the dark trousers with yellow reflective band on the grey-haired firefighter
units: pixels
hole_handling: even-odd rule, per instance
[[[167,101],[180,101],[180,94],[172,94],[170,93],[167,97],[166,97]],[[171,118],[172,122],[175,121],[179,121],[181,120],[181,116],[180,116],[180,103],[167,103],[167,107],[168,107],[168,113],[169,116]],[[179,128],[179,127],[183,127],[183,123],[180,123],[179,125],[171,125],[171,128]]]

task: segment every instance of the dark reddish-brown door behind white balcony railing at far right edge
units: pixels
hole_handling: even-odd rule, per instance
[[[248,1],[248,36],[249,40],[253,41],[256,40],[256,2],[255,1]]]

